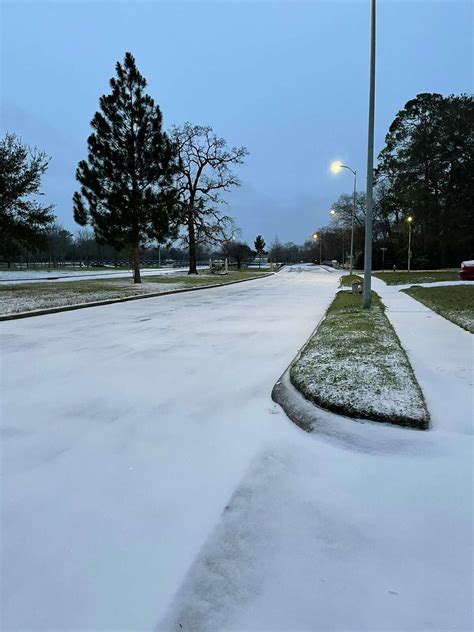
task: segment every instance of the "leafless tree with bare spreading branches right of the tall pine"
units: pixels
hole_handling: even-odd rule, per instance
[[[189,248],[188,274],[197,274],[196,245],[229,239],[233,222],[221,212],[222,192],[240,186],[231,166],[242,164],[248,152],[245,147],[228,149],[223,138],[203,125],[174,127],[171,137],[180,160],[178,190]]]

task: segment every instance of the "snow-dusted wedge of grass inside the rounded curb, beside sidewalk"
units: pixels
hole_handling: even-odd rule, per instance
[[[428,426],[422,392],[376,294],[364,310],[359,296],[339,292],[290,376],[308,399],[334,412]]]

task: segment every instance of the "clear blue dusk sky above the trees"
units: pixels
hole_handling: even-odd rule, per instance
[[[472,91],[472,3],[378,1],[376,155],[420,92]],[[227,212],[253,243],[302,243],[365,189],[369,0],[2,3],[2,132],[51,157],[45,200],[74,232],[77,162],[117,60],[131,51],[165,127],[206,124],[250,155]]]

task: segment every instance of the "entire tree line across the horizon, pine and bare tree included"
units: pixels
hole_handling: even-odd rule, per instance
[[[209,254],[229,256],[239,267],[256,254],[261,258],[261,235],[254,249],[236,240],[239,231],[223,212],[223,195],[240,184],[233,167],[242,164],[247,150],[229,148],[208,126],[185,123],[166,133],[161,110],[146,93],[146,81],[130,53],[116,64],[110,89],[99,100],[87,157],[76,173],[80,186],[73,196],[73,212],[82,231],[92,229],[87,239],[81,232],[73,238],[55,224],[53,206],[40,201],[49,157],[14,134],[0,141],[3,259],[28,261],[36,253],[54,260],[60,258],[55,253],[61,248],[75,249],[75,259],[130,261],[134,280],[140,282],[144,254],[153,256],[158,245],[170,253],[178,239],[191,274],[197,273],[197,261]],[[409,217],[412,267],[457,267],[472,258],[473,172],[472,98],[424,93],[408,101],[388,130],[375,169],[374,267],[406,265]],[[317,242],[282,245],[276,239],[269,255],[275,262],[346,262],[352,210],[352,195],[341,195],[332,206],[330,223],[318,230]],[[355,265],[360,268],[362,192],[356,194],[354,217]],[[184,250],[178,250],[174,254],[181,257]],[[93,251],[95,257],[87,254]]]

